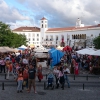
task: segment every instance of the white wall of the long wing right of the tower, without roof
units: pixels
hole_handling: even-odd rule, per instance
[[[71,42],[70,46],[74,46],[75,42],[85,42],[88,38],[93,40],[95,37],[99,36],[100,27],[95,29],[86,29],[86,30],[76,30],[76,31],[62,31],[62,32],[47,32],[44,37],[44,44],[50,44],[52,42],[53,45],[59,46],[62,41],[62,36],[64,37],[65,45],[69,45],[69,41]],[[85,38],[73,39],[72,35],[86,35]],[[52,40],[51,36],[53,37]],[[56,40],[56,36],[58,36],[58,40]],[[48,37],[48,40],[46,38]],[[80,43],[81,44],[81,43]]]

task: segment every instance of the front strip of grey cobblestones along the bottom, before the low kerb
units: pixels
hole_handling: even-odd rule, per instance
[[[5,90],[0,89],[0,100],[100,100],[100,88],[88,87],[82,89],[80,87],[66,88],[65,90],[54,89],[44,90],[43,87],[37,87],[37,94],[33,90],[27,93],[17,93],[16,87],[6,87]]]

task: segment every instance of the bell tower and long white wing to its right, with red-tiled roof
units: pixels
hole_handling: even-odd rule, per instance
[[[43,18],[41,20],[46,21]],[[43,23],[45,26],[46,23]],[[93,46],[93,39],[100,35],[100,24],[94,26],[84,26],[81,20],[78,18],[76,21],[76,26],[66,27],[66,28],[47,28],[44,27],[44,34],[42,45],[48,46],[74,46],[74,47],[91,47]],[[43,30],[41,28],[41,30]]]

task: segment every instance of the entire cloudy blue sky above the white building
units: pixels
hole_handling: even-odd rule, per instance
[[[84,25],[96,25],[100,23],[100,0],[0,0],[0,21],[11,29],[40,27],[43,17],[49,28],[75,26],[78,18]]]

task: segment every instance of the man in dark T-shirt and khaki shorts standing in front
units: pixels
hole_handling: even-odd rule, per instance
[[[33,86],[34,93],[37,93],[35,87],[35,78],[36,78],[36,69],[32,65],[30,65],[28,70],[28,85],[29,85],[28,92],[31,91],[31,87]]]

